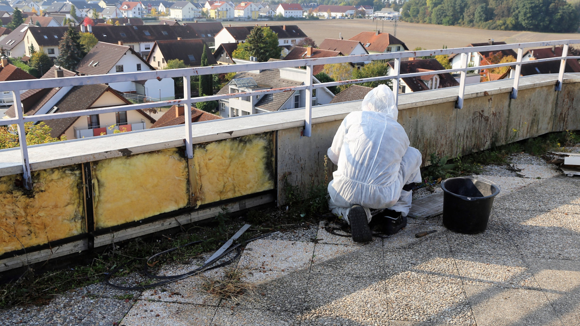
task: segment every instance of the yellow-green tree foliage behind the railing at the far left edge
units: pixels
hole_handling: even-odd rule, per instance
[[[58,142],[59,140],[66,140],[66,137],[62,136],[62,139],[58,139],[50,136],[52,128],[47,126],[44,122],[39,122],[34,124],[34,122],[26,122],[24,124],[24,134],[26,135],[27,145],[35,144],[45,144]],[[0,127],[0,149],[19,147],[19,135],[17,133],[16,125],[1,126]]]

